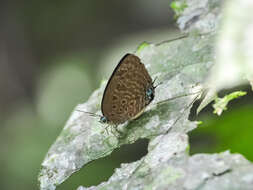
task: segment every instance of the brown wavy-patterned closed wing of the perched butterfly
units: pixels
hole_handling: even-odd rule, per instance
[[[140,59],[126,54],[113,71],[104,91],[101,110],[108,122],[124,123],[135,118],[146,106],[146,90],[152,84]]]

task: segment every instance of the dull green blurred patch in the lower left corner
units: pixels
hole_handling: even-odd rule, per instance
[[[46,125],[31,105],[19,105],[1,128],[1,188],[36,189],[40,162],[58,132],[60,128]]]

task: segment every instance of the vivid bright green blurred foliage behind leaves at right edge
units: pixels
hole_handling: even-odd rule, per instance
[[[252,92],[244,98],[234,100],[221,116],[212,114],[211,109],[204,109],[206,111],[197,118],[202,124],[190,133],[191,154],[230,150],[232,153],[241,153],[253,161],[251,99]]]

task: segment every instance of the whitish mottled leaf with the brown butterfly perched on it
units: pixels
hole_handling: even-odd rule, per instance
[[[163,133],[185,133],[196,127],[188,120],[190,105],[195,95],[184,96],[162,105],[156,105],[171,97],[194,92],[205,80],[213,57],[213,35],[205,38],[188,37],[159,45],[145,45],[137,55],[146,65],[152,78],[158,77],[162,84],[156,89],[154,102],[142,116],[125,123],[124,137],[117,138],[112,133],[104,133],[105,126],[98,118],[73,111],[59,137],[51,146],[39,175],[41,189],[55,189],[72,173],[92,160],[109,155],[123,144],[133,143],[140,138],[153,139]],[[105,83],[96,90],[90,99],[79,105],[79,110],[100,113]],[[109,126],[109,131],[114,130]]]

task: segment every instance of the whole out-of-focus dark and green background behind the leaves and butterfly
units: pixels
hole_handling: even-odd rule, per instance
[[[143,41],[178,36],[170,2],[0,2],[0,189],[37,189],[40,164],[73,108],[85,102],[125,53]],[[108,64],[110,63],[110,64]],[[191,152],[230,149],[253,160],[252,93],[218,117],[206,108]],[[96,185],[120,163],[138,160],[147,141],[124,146],[59,189]]]

